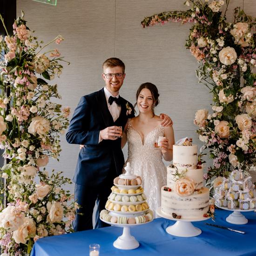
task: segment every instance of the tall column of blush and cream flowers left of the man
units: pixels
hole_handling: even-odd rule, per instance
[[[71,180],[54,170],[48,175],[43,168],[49,157],[58,160],[70,109],[52,101],[61,96],[56,84],[48,84],[60,76],[59,61],[64,60],[58,49],[42,50],[63,37],[42,46],[23,17],[15,20],[12,36],[6,30],[7,36],[0,38],[5,52],[0,62],[0,148],[7,162],[0,171],[6,179],[1,193],[7,196],[7,205],[0,207],[0,246],[5,256],[29,255],[37,239],[72,232],[79,207],[68,203],[74,197],[61,188]]]

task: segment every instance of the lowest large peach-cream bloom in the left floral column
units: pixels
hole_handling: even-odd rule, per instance
[[[23,225],[13,232],[13,239],[16,243],[26,243],[29,236],[34,237],[36,226],[34,220],[25,217]]]

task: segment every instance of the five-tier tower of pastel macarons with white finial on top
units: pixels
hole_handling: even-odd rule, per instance
[[[143,193],[141,177],[131,174],[129,162],[125,170],[125,174],[114,179],[106,210],[100,213],[101,219],[113,224],[139,224],[151,221],[153,212],[149,209],[147,197]]]

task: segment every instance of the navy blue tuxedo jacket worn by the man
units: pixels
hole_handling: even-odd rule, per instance
[[[111,164],[115,166],[116,175],[121,174],[124,165],[121,138],[99,143],[102,129],[114,125],[124,129],[128,118],[134,117],[134,110],[127,115],[126,104],[133,109],[132,104],[122,97],[120,99],[121,114],[115,122],[108,110],[103,88],[81,97],[75,108],[66,134],[68,143],[84,145],[78,156],[73,179],[75,183],[84,186],[100,184],[107,177]]]

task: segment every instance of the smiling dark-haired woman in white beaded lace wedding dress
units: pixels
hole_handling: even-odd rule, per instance
[[[155,211],[161,205],[161,187],[166,184],[166,161],[172,160],[174,131],[172,127],[163,127],[161,119],[155,115],[159,94],[152,83],[143,83],[136,93],[139,115],[128,119],[123,131],[122,147],[128,141],[128,159],[135,175],[142,177],[145,195],[150,209]],[[155,148],[158,136],[164,136],[162,148]],[[155,214],[156,216],[156,214]]]

